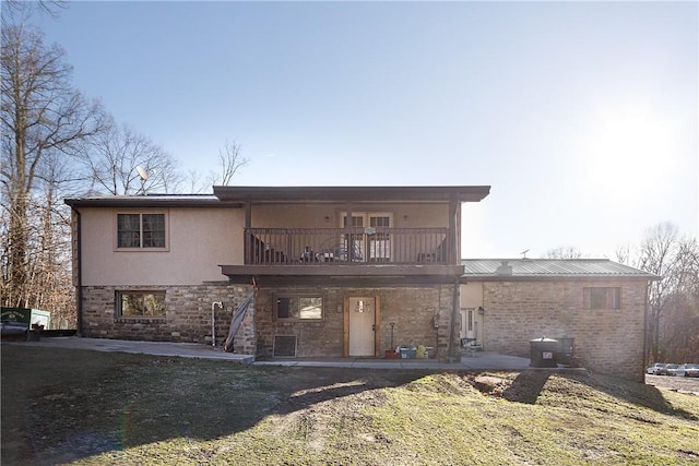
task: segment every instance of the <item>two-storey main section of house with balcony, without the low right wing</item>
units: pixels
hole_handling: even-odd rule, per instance
[[[79,330],[265,357],[459,357],[461,207],[489,187],[68,199]],[[252,296],[253,299],[248,298]]]

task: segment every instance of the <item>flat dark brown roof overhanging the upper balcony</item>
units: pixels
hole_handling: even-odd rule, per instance
[[[333,201],[450,201],[479,202],[489,186],[448,187],[214,187],[222,201],[333,202]]]

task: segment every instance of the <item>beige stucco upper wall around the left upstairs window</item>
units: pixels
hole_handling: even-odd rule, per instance
[[[117,213],[165,212],[166,251],[118,251]],[[196,285],[225,280],[221,264],[242,263],[241,210],[83,208],[83,286]]]

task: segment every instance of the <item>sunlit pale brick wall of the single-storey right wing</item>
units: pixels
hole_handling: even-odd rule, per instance
[[[584,287],[620,287],[621,309],[584,310]],[[531,339],[571,337],[582,367],[642,382],[645,282],[489,282],[483,306],[486,350],[530,357]]]

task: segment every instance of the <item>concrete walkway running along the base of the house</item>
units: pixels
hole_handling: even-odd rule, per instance
[[[435,359],[369,359],[369,358],[277,358],[257,360],[253,356],[225,353],[223,347],[197,343],[134,342],[78,336],[44,337],[39,342],[2,340],[2,343],[36,347],[121,351],[182,358],[218,359],[256,366],[342,367],[363,369],[443,369],[443,370],[522,370],[530,369],[529,358],[490,351],[464,354],[461,362],[439,362]]]

